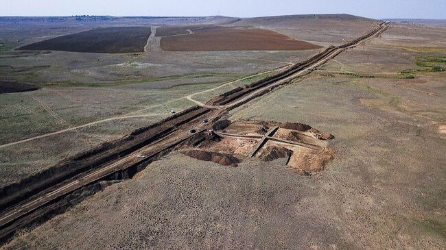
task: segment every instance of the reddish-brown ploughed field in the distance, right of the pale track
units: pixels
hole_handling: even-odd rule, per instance
[[[266,51],[319,49],[309,42],[294,40],[265,29],[246,27],[204,27],[193,34],[161,39],[165,51]]]

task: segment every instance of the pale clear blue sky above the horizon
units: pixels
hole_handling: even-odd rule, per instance
[[[223,16],[347,13],[446,19],[446,0],[0,0],[0,16]]]

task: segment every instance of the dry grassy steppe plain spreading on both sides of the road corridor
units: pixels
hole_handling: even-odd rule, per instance
[[[382,23],[0,17],[0,190],[195,105],[218,109]],[[77,190],[1,248],[445,249],[446,28],[386,25],[228,108],[225,126],[209,115],[218,136]]]

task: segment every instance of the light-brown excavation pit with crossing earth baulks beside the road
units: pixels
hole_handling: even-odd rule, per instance
[[[212,132],[218,140],[203,140],[195,145],[197,149],[183,154],[224,166],[251,156],[263,162],[285,158],[287,167],[296,173],[314,175],[323,171],[336,153],[329,147],[334,136],[303,123],[250,120],[225,123],[227,127],[219,126],[220,130]],[[276,127],[275,132],[270,130]]]

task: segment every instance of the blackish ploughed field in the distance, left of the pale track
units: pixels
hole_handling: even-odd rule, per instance
[[[109,27],[60,36],[19,49],[88,53],[143,52],[150,33],[150,27]]]

